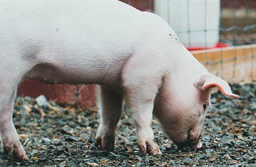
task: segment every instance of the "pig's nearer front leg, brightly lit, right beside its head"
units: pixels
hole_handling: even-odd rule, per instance
[[[152,155],[162,154],[155,142],[151,127],[157,86],[142,83],[131,87],[125,86],[125,102],[137,126],[138,144],[141,152],[145,154],[148,151]]]

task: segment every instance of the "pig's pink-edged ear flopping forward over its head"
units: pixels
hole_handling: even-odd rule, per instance
[[[202,90],[209,90],[217,87],[223,95],[238,98],[239,96],[232,93],[229,84],[220,77],[211,76],[206,77],[205,82],[202,85]]]

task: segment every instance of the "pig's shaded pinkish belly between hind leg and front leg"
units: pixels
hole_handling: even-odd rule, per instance
[[[121,69],[124,64],[113,67],[83,68],[57,67],[52,64],[40,64],[29,71],[27,79],[48,84],[100,84],[112,89],[119,89],[121,83]]]

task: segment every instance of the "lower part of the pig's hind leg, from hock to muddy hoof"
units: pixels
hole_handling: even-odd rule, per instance
[[[16,90],[13,91],[7,102],[3,103],[0,109],[0,136],[4,152],[18,157],[20,160],[27,160],[27,154],[24,151],[17,131],[13,125],[13,101],[16,96]]]

